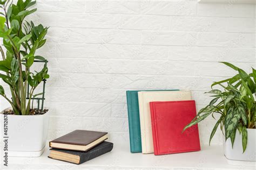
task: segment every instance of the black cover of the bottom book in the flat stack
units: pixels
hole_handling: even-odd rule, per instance
[[[113,143],[104,141],[103,143],[93,147],[91,150],[89,150],[87,152],[60,150],[60,149],[56,149],[56,148],[51,148],[50,151],[52,150],[52,151],[68,153],[71,155],[78,155],[80,158],[80,161],[78,163],[78,165],[79,165],[79,164],[83,164],[84,162],[89,161],[93,158],[99,157],[100,155],[103,155],[107,152],[110,152],[112,149],[113,149]],[[51,157],[49,156],[49,158],[51,158]],[[58,159],[58,160],[60,160],[60,159]],[[76,164],[74,162],[71,162],[71,163]]]

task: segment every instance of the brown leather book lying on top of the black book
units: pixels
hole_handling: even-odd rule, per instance
[[[88,151],[107,139],[107,132],[75,130],[50,141],[52,148],[63,150]]]

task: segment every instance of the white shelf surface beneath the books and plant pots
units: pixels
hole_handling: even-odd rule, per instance
[[[128,145],[114,144],[111,152],[81,165],[48,158],[49,147],[41,157],[9,157],[8,169],[255,169],[253,166],[228,165],[222,146],[203,146],[201,151],[154,155],[130,153]],[[1,168],[0,168],[1,169]]]

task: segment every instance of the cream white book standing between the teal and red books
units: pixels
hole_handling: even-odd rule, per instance
[[[153,153],[153,136],[151,126],[150,102],[192,100],[191,91],[139,91],[139,118],[142,136],[142,153]]]

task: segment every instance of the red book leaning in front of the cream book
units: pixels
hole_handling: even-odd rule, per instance
[[[196,103],[190,101],[150,102],[154,154],[200,151],[198,125],[183,133],[196,116]]]

